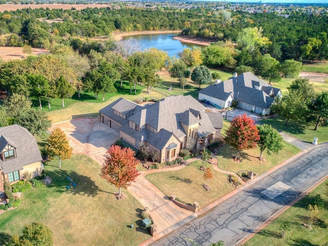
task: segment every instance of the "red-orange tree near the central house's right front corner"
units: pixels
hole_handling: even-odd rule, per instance
[[[260,139],[255,121],[247,114],[238,115],[231,121],[231,126],[226,132],[224,138],[228,144],[237,150],[238,153],[242,150],[249,150],[256,147],[256,141]]]

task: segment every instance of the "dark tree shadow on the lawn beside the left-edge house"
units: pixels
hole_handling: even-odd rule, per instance
[[[52,178],[52,182],[47,187],[55,187],[59,193],[66,192],[72,195],[95,197],[100,191],[90,177],[78,174],[75,171],[58,168],[54,171],[47,171],[47,175]],[[76,186],[74,186],[74,183]]]

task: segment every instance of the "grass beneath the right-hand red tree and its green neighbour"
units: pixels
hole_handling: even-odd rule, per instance
[[[258,175],[277,166],[280,162],[297,154],[300,150],[293,145],[283,142],[284,148],[278,154],[268,155],[265,151],[263,158],[265,161],[260,161],[260,151],[258,148],[245,150],[238,154],[240,162],[232,159],[236,155],[236,149],[226,144],[218,149],[218,167],[223,170],[238,172],[241,170],[252,171]]]

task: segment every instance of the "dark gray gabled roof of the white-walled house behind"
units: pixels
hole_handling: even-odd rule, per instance
[[[199,93],[226,101],[233,92],[233,98],[243,103],[261,108],[270,108],[273,103],[271,95],[276,96],[280,89],[274,88],[251,72],[246,72],[208,86]]]

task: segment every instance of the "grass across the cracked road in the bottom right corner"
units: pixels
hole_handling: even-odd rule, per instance
[[[323,182],[309,195],[294,204],[290,209],[286,210],[267,227],[244,243],[243,246],[326,245],[325,243],[328,241],[326,228],[328,222],[328,197],[325,192],[326,185],[328,185],[328,180]],[[325,209],[321,209],[320,219],[322,220],[322,223],[321,226],[313,226],[311,229],[306,229],[302,226],[302,223],[304,223],[304,215],[306,215],[308,204],[314,203],[314,198],[317,194],[321,195],[325,204]],[[280,238],[278,235],[279,227],[284,221],[289,221],[291,223],[291,231],[289,237]]]

